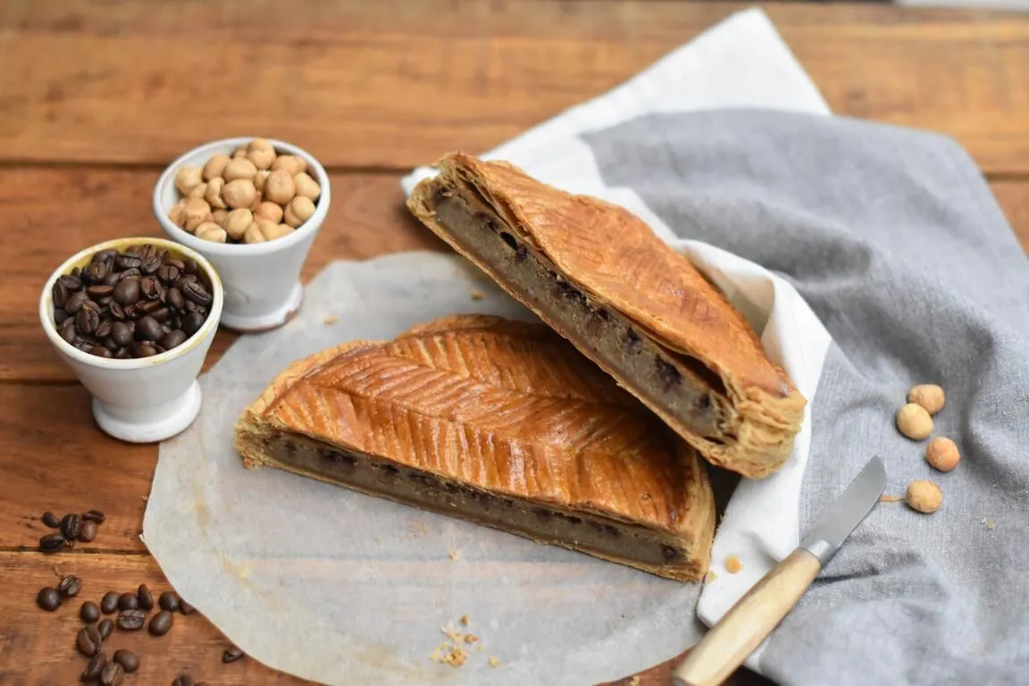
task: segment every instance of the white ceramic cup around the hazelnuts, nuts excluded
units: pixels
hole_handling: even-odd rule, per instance
[[[309,152],[295,145],[271,139],[279,153],[294,154],[308,163],[310,174],[321,186],[315,213],[289,236],[267,243],[227,244],[198,239],[176,226],[168,211],[180,198],[175,175],[182,167],[203,167],[219,152],[232,155],[255,137],[226,138],[193,148],[173,161],[153,189],[153,213],[173,241],[207,257],[221,275],[225,309],[221,324],[237,331],[267,331],[282,326],[296,314],[304,299],[300,269],[328,213],[331,189],[325,169]]]

